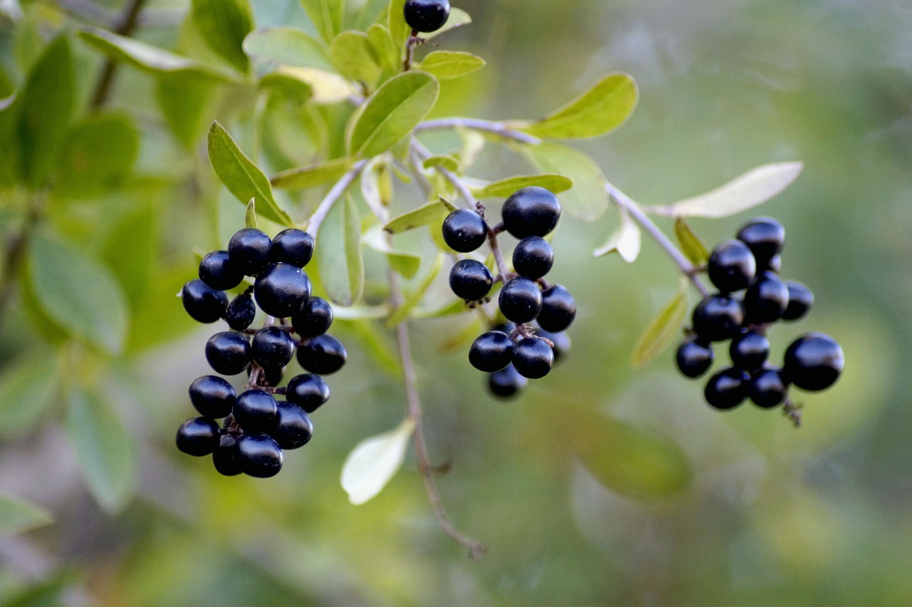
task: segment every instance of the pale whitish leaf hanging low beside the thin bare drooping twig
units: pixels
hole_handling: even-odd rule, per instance
[[[415,431],[415,421],[406,417],[393,430],[362,440],[342,466],[342,489],[356,506],[376,496],[402,468],[405,449]]]

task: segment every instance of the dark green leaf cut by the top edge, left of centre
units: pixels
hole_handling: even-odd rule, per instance
[[[221,57],[246,72],[244,36],[254,29],[248,0],[191,0],[191,16],[206,44]]]

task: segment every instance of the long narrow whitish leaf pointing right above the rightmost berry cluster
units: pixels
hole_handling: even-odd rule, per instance
[[[798,179],[803,168],[801,162],[764,164],[706,194],[646,211],[671,217],[728,217],[769,201]]]

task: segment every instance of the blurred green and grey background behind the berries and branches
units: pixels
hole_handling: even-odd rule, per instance
[[[150,0],[136,35],[175,47],[188,4]],[[253,4],[257,26],[312,28],[296,0]],[[53,518],[0,539],[0,603],[912,602],[912,5],[458,5],[474,23],[436,42],[488,65],[445,83],[435,115],[537,118],[606,72],[625,71],[640,88],[637,110],[621,129],[578,147],[637,201],[666,204],[762,163],[802,160],[799,180],[757,212],[785,225],[782,274],[808,284],[816,304],[801,322],[776,327],[771,341],[781,357],[797,334],[833,334],[845,349],[842,379],[797,395],[804,427],[795,429],[750,405],[711,410],[700,382],[676,373],[673,348],[633,369],[631,350],[675,292],[676,268],[648,240],[633,265],[595,259],[617,216],[565,217],[552,274],[580,307],[573,349],[521,398],[493,400],[466,364],[467,344],[448,347],[459,319],[411,324],[430,452],[450,467],[438,479],[442,498],[456,525],[488,547],[481,561],[437,527],[411,453],[363,506],[339,487],[348,451],[403,414],[400,381],[377,355],[394,348],[382,331],[339,325],[349,364],[329,379],[333,396],[314,416],[314,440],[287,455],[279,476],[220,477],[208,458],[173,447],[174,430],[192,414],[186,386],[207,373],[202,345],[212,333],[173,295],[194,274],[193,247],[220,248],[243,221],[231,202],[212,229],[211,210],[227,197],[200,144],[228,110],[211,100],[183,146],[158,113],[153,78],[120,67],[107,107],[127,113],[140,134],[130,182],[67,202],[55,221],[124,284],[128,345],[118,356],[85,355],[52,327],[48,335],[21,294],[3,318],[0,365],[62,362],[56,370],[36,363],[28,382],[0,381],[0,493]],[[120,7],[0,2],[2,97],[43,41]],[[88,91],[101,60],[78,40],[73,49]],[[243,124],[243,111],[232,111],[226,119]],[[472,176],[529,170],[489,148]],[[750,213],[691,225],[711,246]],[[15,232],[13,220],[0,221],[5,237]],[[658,223],[670,233],[669,221]],[[137,273],[140,282],[126,278]],[[129,430],[123,478],[108,501],[92,497],[72,455],[72,406],[65,413],[57,397],[40,396],[51,381],[85,376],[100,378],[98,397]],[[38,400],[40,408],[30,406]],[[595,434],[604,443],[587,448],[587,468],[579,437],[589,436],[594,414],[606,429]]]

